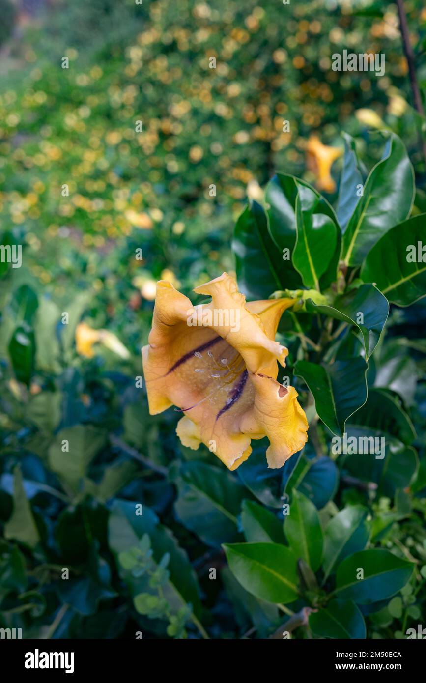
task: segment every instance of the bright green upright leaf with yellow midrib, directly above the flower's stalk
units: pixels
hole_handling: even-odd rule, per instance
[[[293,265],[305,287],[319,290],[319,278],[326,272],[337,245],[337,227],[327,214],[319,212],[319,196],[298,184],[296,199],[297,240]]]

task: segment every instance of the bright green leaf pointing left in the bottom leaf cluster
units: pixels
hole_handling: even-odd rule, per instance
[[[243,588],[267,602],[293,602],[298,597],[297,559],[276,543],[225,544],[229,569]]]

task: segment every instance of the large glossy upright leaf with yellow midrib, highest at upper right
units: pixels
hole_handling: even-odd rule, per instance
[[[403,143],[391,133],[385,156],[369,174],[347,224],[341,260],[359,266],[380,237],[410,215],[413,200],[414,171]]]

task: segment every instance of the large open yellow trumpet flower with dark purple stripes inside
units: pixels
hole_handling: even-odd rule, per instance
[[[149,344],[142,349],[151,415],[177,406],[185,446],[204,443],[230,469],[268,436],[268,465],[281,467],[307,441],[308,423],[294,387],[276,380],[288,351],[274,341],[294,299],[246,303],[227,273],[195,288],[211,296],[193,306],[171,283],[157,283]],[[278,361],[278,362],[277,362]]]

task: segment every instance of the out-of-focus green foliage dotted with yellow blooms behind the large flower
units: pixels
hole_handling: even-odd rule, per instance
[[[406,11],[424,94],[426,10],[408,0]],[[371,167],[382,151],[377,131],[395,131],[416,172],[415,210],[425,210],[424,122],[412,108],[396,5],[1,0],[0,14],[2,244],[23,245],[23,267],[8,268],[0,284],[2,625],[23,626],[27,637],[134,637],[139,630],[158,637],[168,624],[167,635],[179,637],[187,615],[167,591],[137,609],[129,597],[135,571],[160,588],[169,572],[186,577],[181,592],[195,613],[189,635],[199,635],[197,572],[211,635],[240,637],[253,622],[267,633],[275,608],[252,600],[244,611],[227,570],[222,581],[208,579],[208,568],[225,566],[218,544],[241,538],[238,525],[214,518],[197,535],[182,523],[185,511],[175,515],[173,463],[216,463],[177,443],[173,411],[147,416],[145,389],[135,386],[140,348],[157,279],[188,294],[233,272],[231,234],[246,197],[261,201],[274,171],[317,182],[307,163],[312,136],[343,149],[345,130]],[[386,55],[382,78],[332,71],[332,53],[361,48]],[[341,160],[332,167],[330,201],[340,170]],[[395,353],[384,350],[379,368],[384,386],[410,386],[404,400],[420,425],[423,309],[391,313]],[[64,439],[76,444],[72,466]],[[244,491],[238,477],[213,475],[240,502],[251,487],[259,494],[256,464],[254,454]],[[421,467],[417,492],[426,485]],[[333,496],[338,506],[371,497],[368,488],[341,490],[335,470],[330,465],[322,477],[319,507]],[[270,486],[279,488],[276,477]],[[262,495],[270,504],[272,493]],[[114,527],[130,515],[131,504],[117,497],[150,507],[137,529],[136,559],[120,546],[122,531],[115,538],[110,528],[108,539],[108,520]],[[405,499],[370,502],[378,540],[407,542],[408,553],[425,561],[425,533],[401,510]],[[71,568],[69,582],[61,581],[63,567]],[[386,635],[394,618],[373,619],[368,637]],[[401,619],[406,624],[406,612]]]

